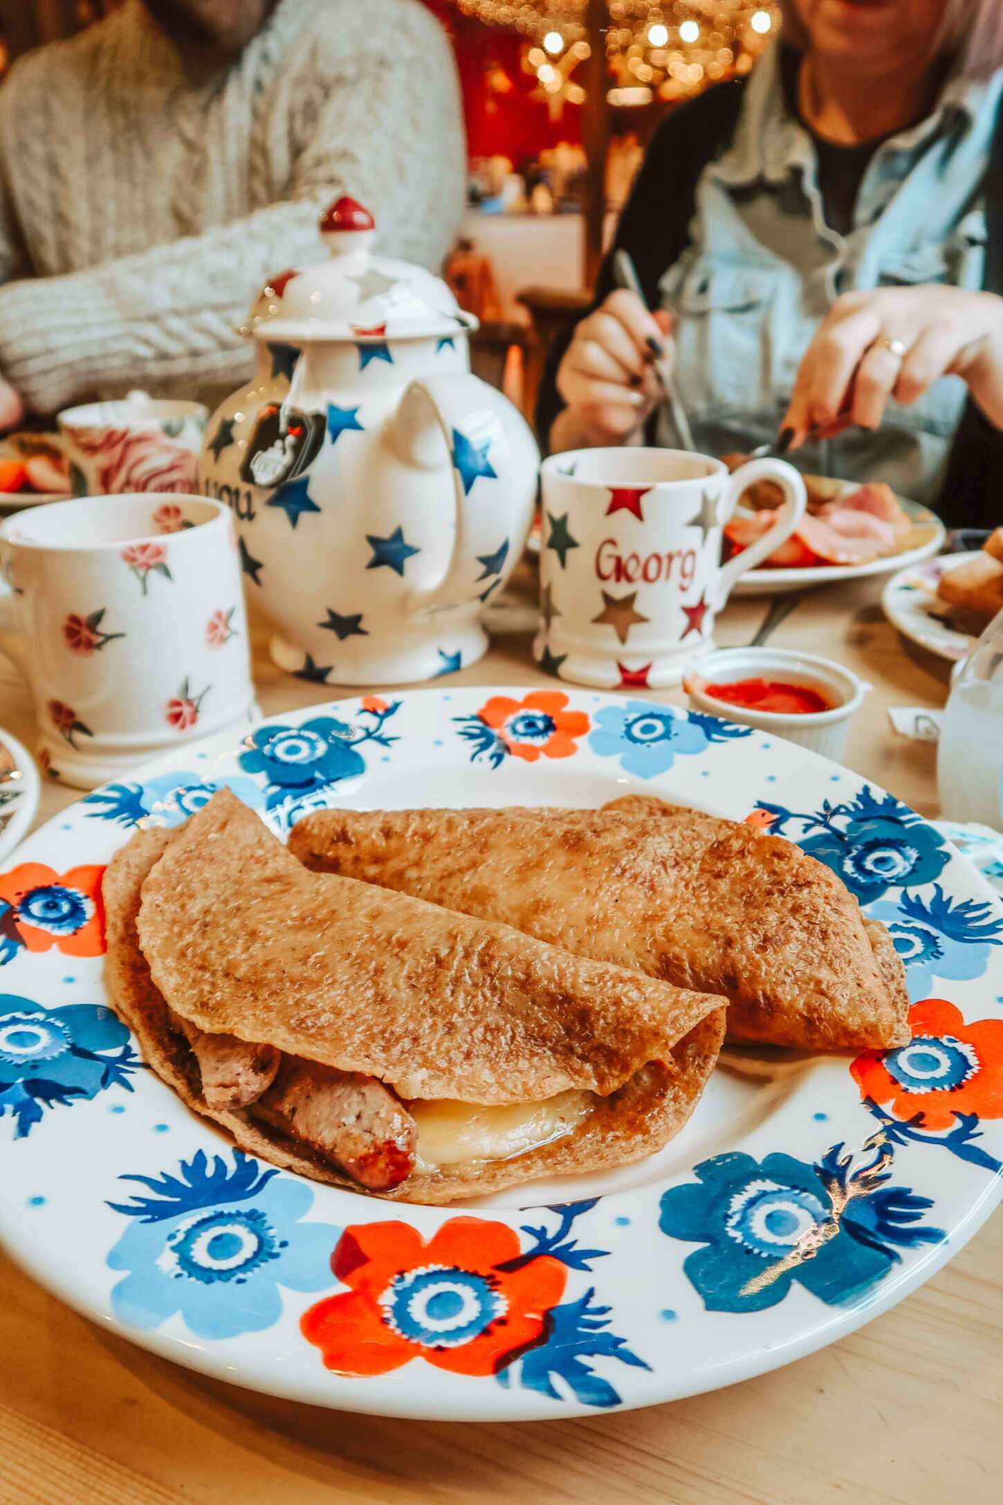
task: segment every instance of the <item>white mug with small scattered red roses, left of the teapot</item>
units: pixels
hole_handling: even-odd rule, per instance
[[[0,649],[24,670],[39,760],[93,789],[254,715],[227,507],[137,494],[56,501],[0,525]]]

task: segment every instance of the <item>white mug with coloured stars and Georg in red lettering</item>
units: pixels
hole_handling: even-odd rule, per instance
[[[540,628],[549,673],[600,689],[678,685],[714,646],[714,614],[791,536],[805,482],[779,459],[732,476],[687,450],[597,448],[543,464]],[[722,564],[722,530],[756,482],[783,492],[773,527]]]

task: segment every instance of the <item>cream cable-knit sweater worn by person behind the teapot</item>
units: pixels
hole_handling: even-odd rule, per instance
[[[0,376],[41,412],[232,388],[235,325],[325,254],[325,203],[350,194],[380,250],[438,269],[463,167],[451,50],[417,0],[280,0],[202,77],[126,0],[0,89]]]

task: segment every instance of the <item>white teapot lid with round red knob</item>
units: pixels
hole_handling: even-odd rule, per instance
[[[424,266],[374,256],[376,221],[355,199],[338,199],[320,215],[326,262],[289,268],[269,278],[251,309],[248,333],[259,340],[448,339],[478,327],[450,287]]]

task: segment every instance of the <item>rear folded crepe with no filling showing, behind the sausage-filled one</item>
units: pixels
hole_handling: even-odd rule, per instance
[[[657,802],[651,802],[654,805]],[[579,956],[728,998],[728,1035],[800,1049],[905,1044],[884,926],[780,837],[701,811],[316,811],[289,847]]]

